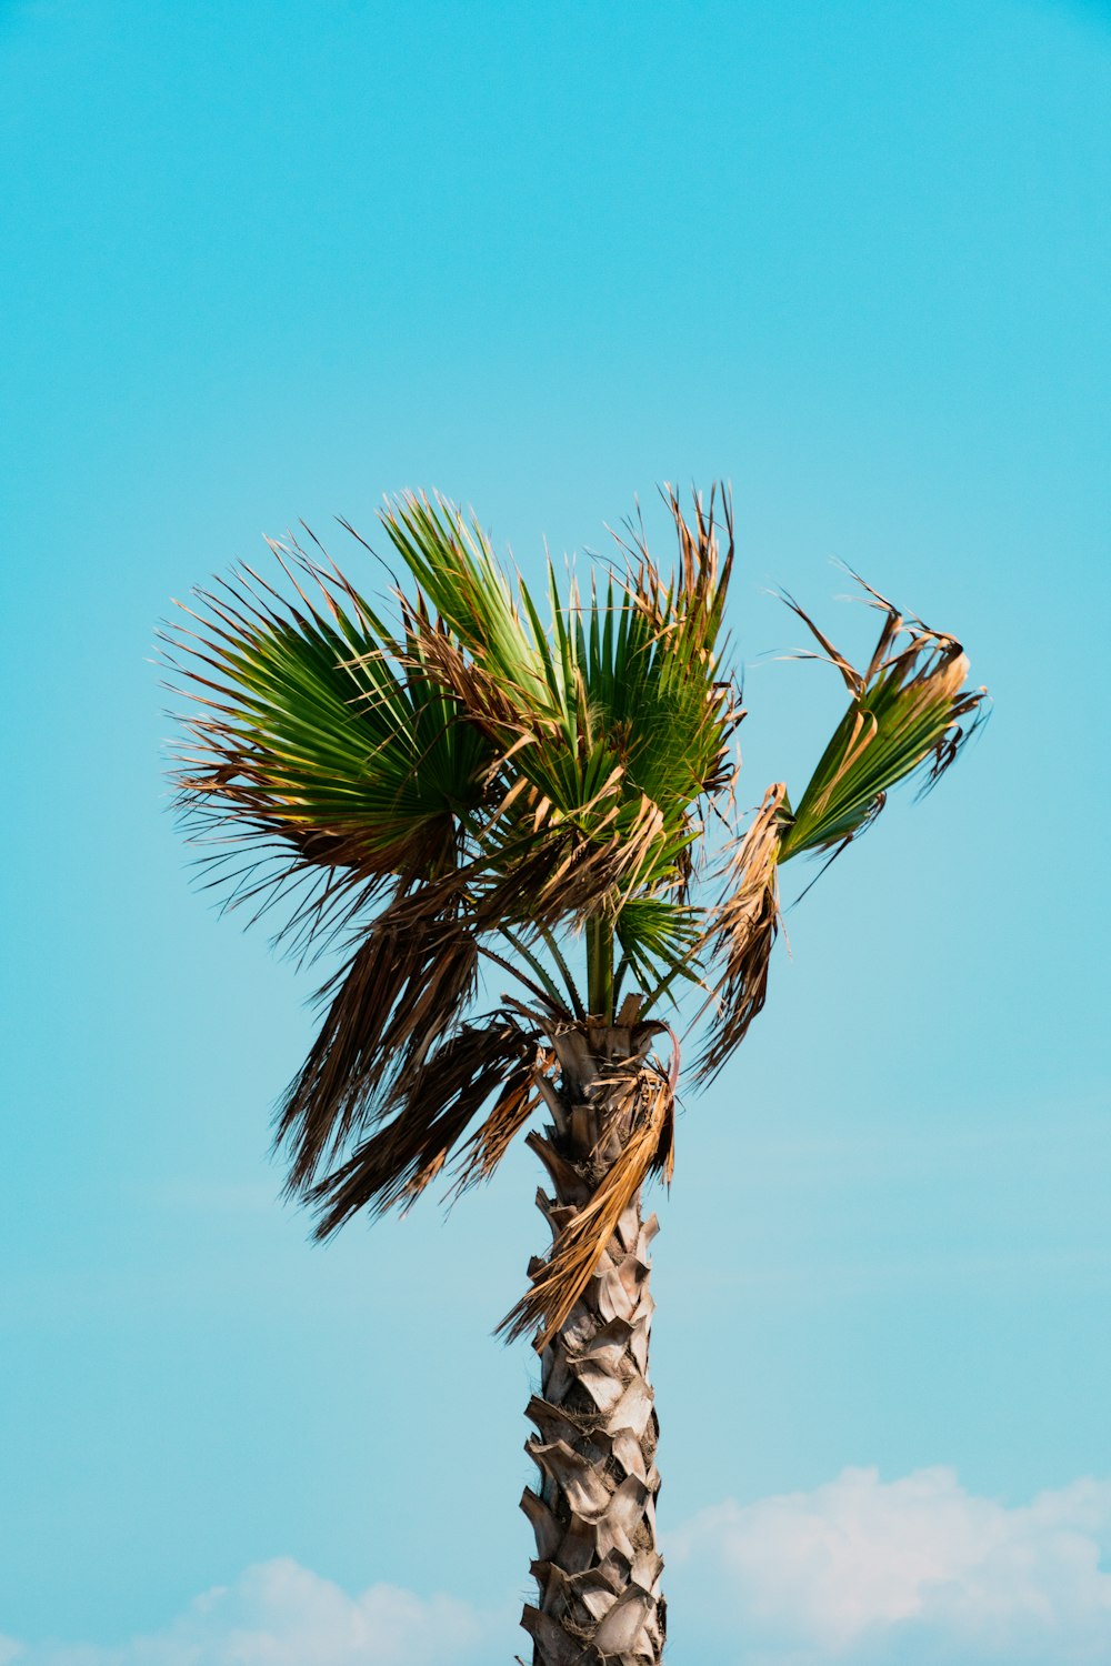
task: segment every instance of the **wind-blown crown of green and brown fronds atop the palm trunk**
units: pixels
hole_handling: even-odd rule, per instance
[[[710,1078],[763,1006],[781,863],[841,850],[979,721],[951,636],[869,591],[883,625],[858,671],[791,601],[848,710],[798,800],[776,783],[745,823],[730,500],[666,503],[670,576],[638,528],[585,593],[550,563],[536,595],[476,521],[405,495],[381,513],[390,620],[290,540],[273,585],[243,568],[167,631],[190,700],[173,776],[212,881],[253,915],[285,905],[296,951],[348,948],[277,1125],[321,1236],[410,1201],[453,1153],[460,1185],[488,1175],[555,1068],[553,1026],[613,1023],[626,990],[658,1028],[703,991]],[[476,1016],[483,958],[525,1000]],[[656,1123],[645,1173],[670,1163]]]

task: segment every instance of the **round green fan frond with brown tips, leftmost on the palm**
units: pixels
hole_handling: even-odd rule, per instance
[[[180,803],[202,838],[223,828],[260,856],[283,846],[278,886],[300,866],[345,870],[345,883],[376,891],[455,865],[490,743],[413,641],[395,643],[300,551],[273,548],[295,583],[300,561],[316,603],[300,583],[288,601],[243,570],[200,593],[202,611],[187,610],[195,628],[165,636],[192,703],[175,758]]]

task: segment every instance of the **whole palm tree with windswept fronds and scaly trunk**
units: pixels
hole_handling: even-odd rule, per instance
[[[671,1178],[668,1016],[693,996],[693,1080],[711,1080],[765,1003],[783,863],[841,851],[904,776],[931,785],[981,715],[951,636],[869,591],[858,671],[791,601],[848,710],[800,798],[770,786],[745,825],[730,500],[665,501],[671,576],[638,523],[586,595],[550,566],[541,600],[476,523],[406,495],[381,513],[393,621],[290,540],[273,585],[242,570],[167,636],[192,696],[175,781],[213,880],[253,915],[281,905],[298,953],[345,945],[277,1118],[316,1236],[408,1206],[450,1163],[456,1191],[485,1180],[548,1115],[525,1138],[551,1246],[501,1323],[541,1359],[538,1666],[663,1649],[641,1191]],[[478,1013],[491,980],[513,993]]]

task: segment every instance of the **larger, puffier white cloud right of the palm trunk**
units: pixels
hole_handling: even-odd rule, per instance
[[[705,1509],[666,1549],[676,1619],[721,1639],[715,1666],[1111,1663],[1111,1481],[1008,1508],[951,1469],[844,1469]]]

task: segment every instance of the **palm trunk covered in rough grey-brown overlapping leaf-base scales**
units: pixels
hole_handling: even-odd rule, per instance
[[[648,1026],[581,1026],[555,1041],[561,1080],[558,1088],[545,1085],[553,1126],[546,1138],[530,1138],[555,1191],[536,1198],[553,1251],[630,1136],[635,1096],[608,1091],[608,1066],[625,1065],[628,1081],[628,1063],[643,1058],[648,1040]],[[656,1666],[663,1653],[660,1424],[648,1383],[655,1233],[656,1218],[641,1220],[636,1195],[541,1354],[541,1391],[526,1411],[536,1426],[526,1451],[540,1484],[521,1499],[536,1533],[531,1571],[540,1591],[521,1619],[533,1666]],[[530,1273],[543,1266],[533,1261]]]

